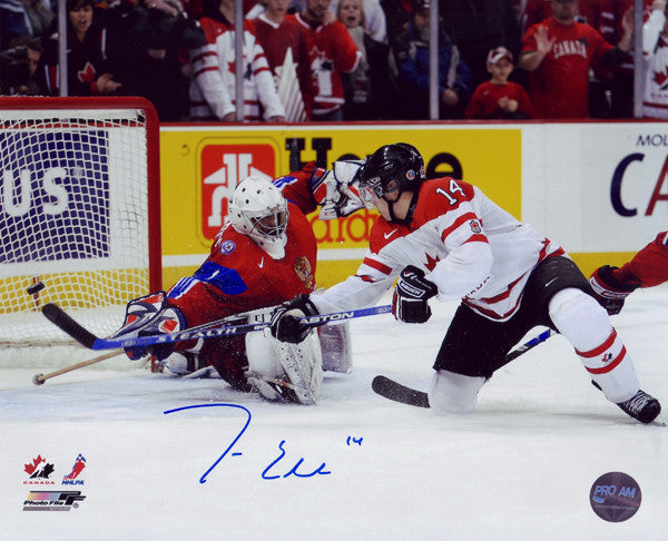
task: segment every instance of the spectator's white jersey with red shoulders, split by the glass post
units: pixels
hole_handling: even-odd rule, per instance
[[[203,17],[199,24],[206,43],[189,51],[193,63],[190,116],[194,120],[218,120],[236,110],[236,73],[244,77],[244,120],[285,116],[264,50],[248,21],[244,21],[244,66],[235,67],[234,26]]]

